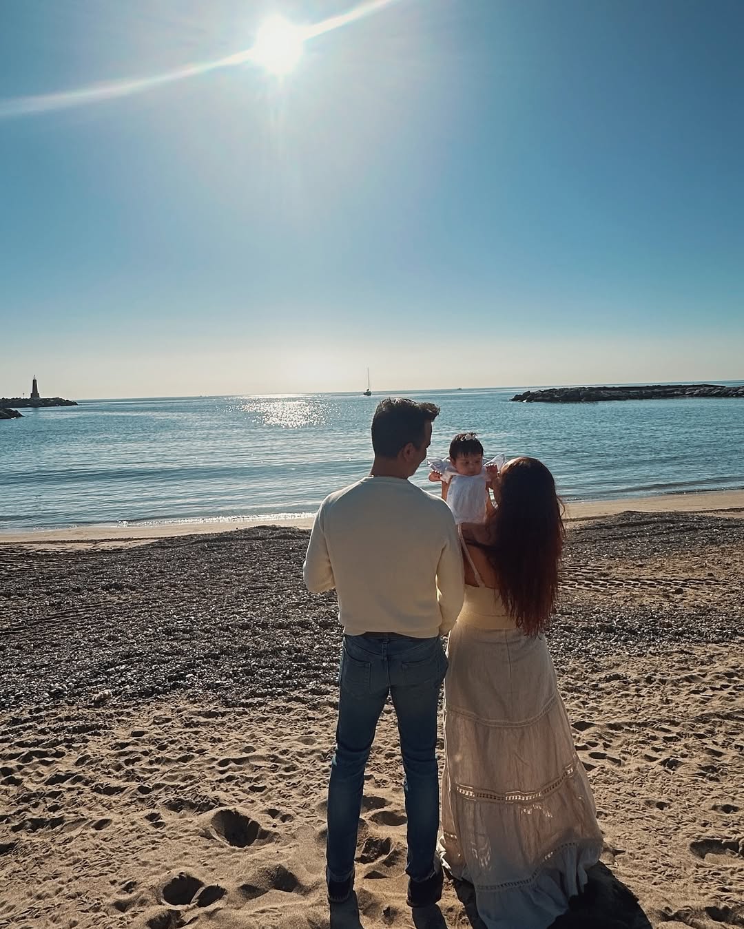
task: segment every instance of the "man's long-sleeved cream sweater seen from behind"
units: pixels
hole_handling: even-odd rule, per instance
[[[463,606],[450,509],[402,478],[364,478],[326,497],[304,575],[314,594],[336,588],[346,635],[444,635]]]

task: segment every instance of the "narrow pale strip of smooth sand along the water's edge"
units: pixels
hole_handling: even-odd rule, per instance
[[[566,502],[567,522],[578,522],[600,517],[616,516],[625,511],[635,513],[710,513],[720,517],[744,518],[744,490],[739,491],[693,491],[670,493],[655,497],[623,497],[617,500],[572,500]],[[54,545],[63,543],[114,543],[146,544],[156,539],[174,538],[185,535],[211,535],[251,529],[256,526],[290,526],[308,530],[313,517],[245,517],[229,521],[168,523],[136,523],[126,526],[98,524],[74,526],[65,529],[22,530],[5,532],[0,530],[0,546],[3,545]]]

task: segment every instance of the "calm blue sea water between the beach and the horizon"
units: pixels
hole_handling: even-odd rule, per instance
[[[511,403],[521,387],[409,393],[442,412],[431,451],[475,429],[568,499],[744,488],[744,400]],[[380,395],[382,396],[382,395]],[[379,396],[88,400],[0,423],[0,531],[306,516],[364,476]],[[426,490],[422,467],[414,480]]]

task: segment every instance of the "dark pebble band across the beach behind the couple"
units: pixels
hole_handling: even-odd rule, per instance
[[[134,701],[175,691],[228,705],[332,698],[341,630],[333,593],[302,582],[307,530],[259,527],[136,548],[0,548],[0,710]],[[566,570],[643,564],[744,545],[744,519],[623,513],[568,531]],[[550,636],[555,665],[740,637],[741,577],[724,601],[593,599],[567,588]]]

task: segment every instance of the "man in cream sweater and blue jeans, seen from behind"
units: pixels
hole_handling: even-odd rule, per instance
[[[388,693],[398,716],[408,815],[408,902],[436,903],[442,872],[437,703],[447,670],[440,635],[463,606],[463,557],[444,501],[408,478],[426,457],[439,408],[384,399],[372,418],[368,478],[320,504],[305,561],[313,593],[336,589],[344,626],[336,750],[328,785],[328,898],[354,887],[364,768]]]

